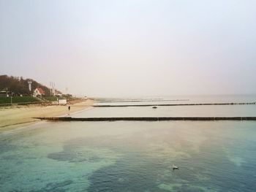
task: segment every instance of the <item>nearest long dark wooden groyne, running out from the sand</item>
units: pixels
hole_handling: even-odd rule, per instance
[[[256,120],[256,117],[121,117],[121,118],[72,118],[72,117],[53,117],[37,118],[40,120],[53,121],[158,121],[158,120]]]

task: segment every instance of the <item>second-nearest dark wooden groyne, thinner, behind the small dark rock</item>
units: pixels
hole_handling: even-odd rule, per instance
[[[203,103],[203,104],[98,104],[93,107],[152,107],[152,106],[194,106],[194,105],[238,105],[238,104],[255,104],[251,103]]]

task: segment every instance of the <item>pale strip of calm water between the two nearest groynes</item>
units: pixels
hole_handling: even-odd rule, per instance
[[[256,105],[196,105],[152,107],[94,107],[72,115],[83,117],[255,117]]]

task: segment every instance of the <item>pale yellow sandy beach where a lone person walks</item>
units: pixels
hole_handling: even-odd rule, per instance
[[[39,121],[37,117],[57,117],[72,114],[91,107],[93,100],[76,100],[66,106],[61,105],[28,105],[0,108],[0,131],[17,128],[21,124],[34,123]],[[68,110],[70,106],[70,111]]]

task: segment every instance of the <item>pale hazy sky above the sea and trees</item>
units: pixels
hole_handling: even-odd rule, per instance
[[[80,96],[256,93],[254,0],[0,0],[0,74]]]

